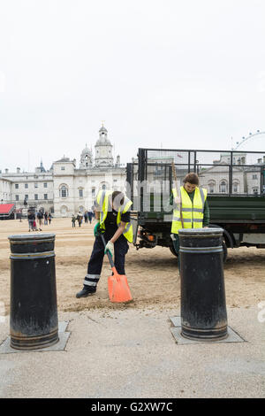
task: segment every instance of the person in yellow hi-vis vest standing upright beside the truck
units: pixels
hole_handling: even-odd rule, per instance
[[[183,182],[180,195],[178,196],[177,189],[172,189],[170,196],[170,204],[173,205],[171,233],[174,249],[178,255],[178,268],[180,267],[178,230],[208,227],[209,224],[207,189],[199,188],[199,177],[196,173],[186,174]]]

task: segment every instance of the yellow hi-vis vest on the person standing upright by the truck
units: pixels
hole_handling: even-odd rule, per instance
[[[177,189],[172,189],[174,198],[177,196]],[[184,187],[180,187],[180,198],[182,202],[181,224],[179,207],[173,211],[171,233],[178,234],[180,228],[202,228],[204,204],[207,198],[207,189],[195,188],[193,202],[188,196]]]

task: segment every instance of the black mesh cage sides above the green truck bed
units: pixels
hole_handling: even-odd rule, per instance
[[[186,173],[194,172],[199,175],[201,186],[211,195],[265,196],[265,151],[140,148],[138,164],[127,164],[132,199],[135,196],[134,181],[168,181],[171,188],[172,162],[180,184]],[[141,187],[140,204],[143,192]]]

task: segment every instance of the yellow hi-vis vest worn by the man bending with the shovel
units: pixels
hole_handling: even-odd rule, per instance
[[[109,209],[109,196],[112,195],[111,190],[100,190],[99,193],[96,196],[96,202],[100,207],[100,224],[102,229],[105,229],[105,220],[108,215],[108,209]],[[130,208],[130,206],[133,204],[133,202],[125,196],[124,204],[122,204],[117,211],[117,227],[120,226],[121,223],[121,214],[125,214]],[[130,222],[126,222],[125,230],[123,232],[123,235],[128,240],[129,243],[133,243],[133,224]]]

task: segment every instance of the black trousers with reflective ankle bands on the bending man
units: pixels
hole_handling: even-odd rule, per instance
[[[105,242],[108,243],[110,238],[115,234],[116,229],[107,228],[104,233]],[[104,258],[104,245],[102,237],[95,237],[93,250],[87,265],[87,275],[85,277],[84,285],[96,287],[102,273],[102,264]],[[117,273],[125,274],[125,255],[129,250],[129,245],[124,235],[120,235],[114,243],[114,265]]]

